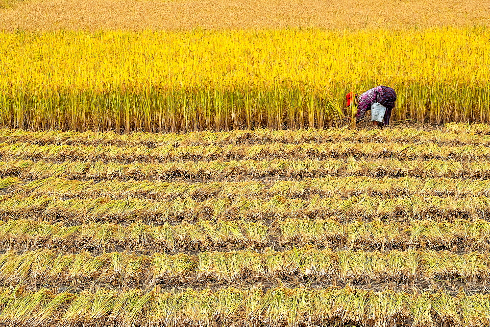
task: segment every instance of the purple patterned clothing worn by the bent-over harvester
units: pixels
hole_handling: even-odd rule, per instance
[[[357,106],[356,121],[359,122],[366,115],[366,111],[371,108],[374,102],[379,102],[386,107],[385,117],[383,118],[383,124],[388,125],[390,117],[392,116],[392,109],[395,106],[396,93],[390,87],[377,86],[372,88],[359,96],[359,104]]]

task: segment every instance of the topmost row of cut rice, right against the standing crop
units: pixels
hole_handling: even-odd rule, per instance
[[[115,132],[59,131],[32,132],[22,129],[0,129],[0,143],[30,143],[39,145],[143,145],[158,146],[238,145],[308,142],[378,142],[378,143],[437,143],[447,145],[490,145],[490,128],[486,124],[448,123],[438,129],[425,126],[394,126],[390,129],[327,128],[307,130],[231,130],[181,133],[118,134]]]

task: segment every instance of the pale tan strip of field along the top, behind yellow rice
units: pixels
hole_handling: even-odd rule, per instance
[[[488,25],[488,1],[3,0],[0,29],[405,28]],[[1,4],[2,2],[0,2]],[[5,6],[4,4],[4,6]]]

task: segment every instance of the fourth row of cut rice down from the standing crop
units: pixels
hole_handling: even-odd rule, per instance
[[[54,198],[145,198],[149,200],[193,199],[204,201],[211,197],[223,199],[263,198],[273,196],[286,198],[312,198],[314,196],[352,197],[412,195],[465,197],[470,195],[489,196],[490,180],[452,178],[372,178],[360,176],[329,176],[298,181],[211,181],[211,182],[167,182],[167,181],[121,181],[121,180],[70,180],[49,177],[35,181],[24,181],[17,177],[0,178],[0,188],[7,194],[23,196],[50,196]]]

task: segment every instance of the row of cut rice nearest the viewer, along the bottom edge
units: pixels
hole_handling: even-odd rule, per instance
[[[485,326],[490,296],[410,294],[329,287],[223,288],[180,292],[87,289],[82,293],[1,289],[0,322],[5,325],[288,326],[360,324],[385,326]],[[366,322],[372,321],[372,324]],[[374,325],[376,323],[376,325]]]

